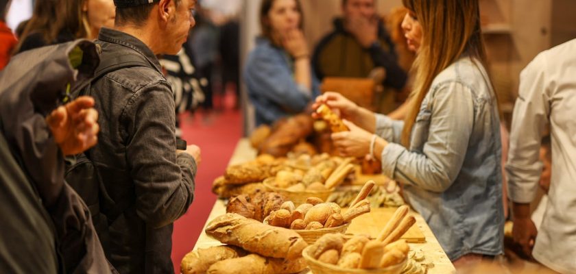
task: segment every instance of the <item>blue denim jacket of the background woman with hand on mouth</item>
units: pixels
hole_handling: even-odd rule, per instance
[[[319,95],[314,76],[312,90],[308,90],[294,81],[293,71],[292,59],[284,49],[266,38],[256,39],[243,74],[248,97],[256,108],[256,125],[302,112]]]

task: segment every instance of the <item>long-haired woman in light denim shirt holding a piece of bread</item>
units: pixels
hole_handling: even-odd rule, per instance
[[[403,184],[457,268],[503,253],[498,101],[487,71],[478,0],[403,0],[403,29],[417,49],[404,121],[335,93],[317,97],[350,129],[332,134],[346,156],[371,155]]]

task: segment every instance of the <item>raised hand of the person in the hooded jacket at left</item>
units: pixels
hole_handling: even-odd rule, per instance
[[[54,141],[64,155],[74,155],[96,145],[100,127],[98,112],[93,108],[94,99],[78,97],[61,105],[46,117]]]

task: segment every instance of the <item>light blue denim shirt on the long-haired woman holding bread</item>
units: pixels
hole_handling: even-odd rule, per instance
[[[404,126],[376,116],[390,142],[382,171],[404,184],[405,199],[427,221],[451,260],[503,252],[500,121],[480,62],[460,58],[434,79],[422,101],[410,149]]]

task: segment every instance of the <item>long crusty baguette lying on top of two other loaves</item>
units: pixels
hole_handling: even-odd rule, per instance
[[[208,223],[206,234],[220,242],[272,258],[296,259],[307,243],[290,229],[265,225],[238,214],[218,216]]]

